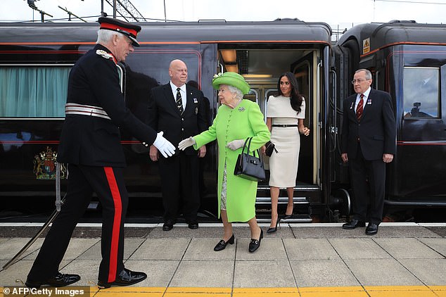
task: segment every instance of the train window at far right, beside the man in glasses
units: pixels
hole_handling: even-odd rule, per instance
[[[426,67],[404,67],[404,119],[438,118],[440,70]]]

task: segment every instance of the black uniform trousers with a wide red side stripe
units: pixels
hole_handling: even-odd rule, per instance
[[[54,220],[28,274],[30,281],[45,281],[56,275],[71,235],[96,192],[102,206],[102,260],[98,279],[114,282],[124,268],[124,221],[128,206],[122,168],[72,165],[68,167],[65,203]]]

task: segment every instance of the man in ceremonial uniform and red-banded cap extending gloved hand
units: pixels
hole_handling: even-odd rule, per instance
[[[138,25],[99,18],[98,40],[73,66],[68,81],[65,122],[60,135],[58,162],[68,163],[68,187],[60,213],[53,222],[25,285],[66,286],[79,281],[77,274],[59,272],[73,229],[91,194],[96,192],[103,208],[102,260],[98,286],[127,286],[146,279],[144,272],[124,267],[124,221],[128,195],[124,184],[124,151],[120,128],[127,129],[145,146],[153,144],[172,156],[174,146],[138,120],[125,106],[117,63],[139,46]]]

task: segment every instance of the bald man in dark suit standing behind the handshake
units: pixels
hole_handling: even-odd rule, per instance
[[[179,141],[208,129],[203,92],[186,85],[187,66],[174,60],[169,66],[170,82],[151,91],[148,123],[178,146]],[[158,149],[151,146],[151,160],[160,164],[163,206],[163,230],[169,231],[177,221],[182,203],[182,213],[189,228],[197,229],[197,212],[200,207],[198,189],[198,158],[203,158],[206,146],[176,151],[172,158],[160,158]]]

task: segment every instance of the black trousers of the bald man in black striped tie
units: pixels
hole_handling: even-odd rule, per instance
[[[181,206],[186,221],[196,221],[200,207],[198,156],[181,152],[178,156],[160,158],[159,162],[164,221],[175,221]]]

